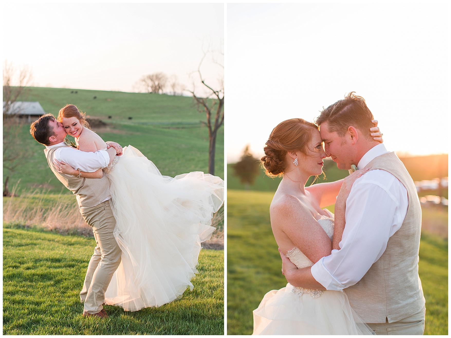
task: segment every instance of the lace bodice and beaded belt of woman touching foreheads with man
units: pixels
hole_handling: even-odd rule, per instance
[[[329,216],[322,215],[321,218],[318,219],[318,223],[332,241],[332,236],[334,235],[334,214],[327,209],[324,210],[329,214]],[[308,259],[307,256],[304,255],[296,246],[293,249],[288,250],[285,256],[288,257],[290,261],[298,267],[298,269],[307,268],[308,266],[313,265],[313,262]],[[302,296],[304,293],[308,293],[314,298],[321,296],[323,293],[322,290],[311,290],[303,287],[293,287],[292,292],[298,294],[299,296]]]

